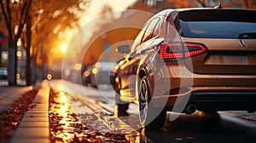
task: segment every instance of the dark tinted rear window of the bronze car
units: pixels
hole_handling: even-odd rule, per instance
[[[185,11],[180,14],[180,33],[183,37],[256,38],[255,17],[256,12],[249,10]]]

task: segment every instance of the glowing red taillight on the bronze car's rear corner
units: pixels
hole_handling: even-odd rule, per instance
[[[165,43],[160,47],[160,58],[162,60],[182,60],[206,51],[207,47],[202,43]]]

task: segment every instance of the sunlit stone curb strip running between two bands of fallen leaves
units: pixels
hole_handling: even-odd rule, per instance
[[[49,135],[49,85],[44,80],[29,109],[22,118],[18,129],[10,140],[11,143],[50,143]]]

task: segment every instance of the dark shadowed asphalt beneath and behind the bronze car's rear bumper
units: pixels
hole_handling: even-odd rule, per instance
[[[170,116],[170,114],[169,114]],[[172,114],[171,114],[172,116]],[[207,115],[196,112],[166,122],[164,131],[146,135],[154,142],[255,142],[256,125],[222,114]]]

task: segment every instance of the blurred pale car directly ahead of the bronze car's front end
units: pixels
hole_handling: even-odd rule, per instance
[[[113,61],[98,61],[96,62],[91,69],[90,74],[90,83],[93,87],[97,87],[101,84],[109,84],[110,85],[110,73],[115,66],[115,62]]]

